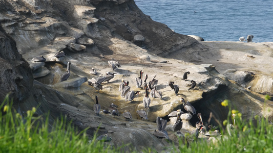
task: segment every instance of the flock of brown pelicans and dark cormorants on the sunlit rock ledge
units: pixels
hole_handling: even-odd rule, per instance
[[[66,54],[63,51],[61,51],[61,52],[56,53],[55,57],[60,58],[60,57],[64,57],[65,55]],[[46,59],[43,56],[40,56],[40,57],[33,58],[32,61],[45,62]],[[115,59],[108,61],[108,64],[112,70],[116,70],[121,67],[120,63]],[[67,71],[61,75],[60,82],[64,82],[64,81],[68,80],[68,78],[70,76],[70,65],[71,65],[71,62],[68,62]],[[90,73],[93,75],[96,75],[97,71],[93,67],[90,70]],[[142,81],[143,73],[144,72],[142,70],[139,71],[139,77],[135,78],[135,85],[136,85],[136,88],[138,88],[140,90],[144,89],[145,96],[143,98],[143,107],[145,109],[149,110],[150,105],[151,105],[151,98],[150,97],[161,99],[162,92],[157,90],[158,80],[155,79],[156,75],[153,76],[151,81],[147,82],[148,74],[144,75],[145,78]],[[117,73],[108,71],[104,75],[99,75],[96,79],[92,78],[92,79],[88,80],[88,85],[93,86],[95,88],[95,92],[99,93],[99,90],[102,90],[102,83],[103,82],[110,83],[110,81],[115,77],[115,74],[117,74]],[[187,81],[188,74],[190,74],[190,71],[184,72],[183,80]],[[196,82],[194,80],[191,80],[191,83],[192,83],[192,85],[190,88],[188,88],[188,90],[194,89],[196,87]],[[175,83],[173,81],[170,81],[168,85],[171,87],[171,90],[174,90],[175,95],[178,96],[179,95],[178,94],[179,93],[179,85],[175,85]],[[140,93],[140,91],[131,90],[131,87],[129,86],[129,81],[126,82],[123,79],[121,80],[121,84],[119,85],[119,92],[121,93],[121,97],[125,98],[125,102],[126,101],[134,101],[134,98],[136,96],[138,96]],[[149,97],[149,95],[150,95],[150,97]],[[95,100],[96,100],[96,103],[93,106],[93,110],[96,115],[99,115],[100,112],[102,112],[105,115],[111,114],[113,117],[120,116],[120,114],[119,114],[120,112],[118,111],[117,105],[112,103],[109,105],[108,108],[103,109],[103,111],[100,111],[101,106],[99,104],[99,100],[98,100],[97,95],[95,95]],[[180,98],[180,101],[183,105],[184,110],[187,111],[189,116],[196,114],[195,108],[191,105],[191,103],[189,101],[187,101],[185,103],[185,100],[182,97]],[[142,119],[148,120],[148,114],[143,109],[137,110],[136,114],[140,117],[141,120]],[[183,112],[181,110],[173,111],[172,113],[169,114],[169,117],[177,117],[176,122],[173,126],[174,132],[176,132],[177,134],[181,134],[180,130],[182,129],[182,126],[183,126],[183,122],[182,122],[182,118],[181,118],[182,114],[183,114]],[[128,121],[130,121],[130,119],[132,119],[132,114],[126,110],[122,113],[122,116],[125,118],[125,120],[128,120]],[[195,130],[195,132],[193,132],[196,137],[198,137],[200,132],[204,133],[204,131],[206,129],[203,124],[203,121],[202,121],[201,113],[198,113],[197,117],[200,119],[200,121],[196,123],[196,130]],[[157,117],[156,123],[157,123],[157,129],[154,131],[153,134],[157,138],[159,138],[160,140],[163,138],[169,139],[169,136],[168,136],[167,132],[165,131],[167,120]]]

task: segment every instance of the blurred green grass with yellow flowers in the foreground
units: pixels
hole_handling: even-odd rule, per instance
[[[229,118],[232,113],[236,113],[235,130],[230,135],[227,134],[227,130],[221,129],[222,137],[215,142],[201,139],[184,144],[185,141],[180,140],[179,146],[173,145],[172,152],[273,152],[273,126],[267,118],[255,116],[254,118],[258,120],[255,126],[251,120],[242,120],[241,114],[232,110],[227,101],[226,103],[225,106],[229,107]],[[71,122],[66,122],[65,117],[56,120],[53,126],[49,126],[48,117],[33,116],[35,108],[27,111],[26,116],[22,117],[12,109],[12,102],[9,102],[8,98],[2,103],[0,109],[2,110],[0,112],[0,152],[120,152],[125,150],[124,146],[114,148],[96,141],[96,136],[90,141],[86,134],[87,129],[78,132]],[[229,119],[225,122],[229,124]],[[154,148],[146,148],[143,152],[156,151]]]

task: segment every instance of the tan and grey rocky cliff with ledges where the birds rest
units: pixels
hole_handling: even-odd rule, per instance
[[[243,118],[272,116],[272,102],[265,104],[268,109],[263,105],[263,94],[272,94],[268,79],[272,72],[265,70],[272,61],[270,43],[200,42],[153,21],[134,1],[7,0],[0,6],[0,99],[12,93],[14,108],[22,116],[38,106],[37,115],[50,110],[53,121],[65,114],[79,129],[90,127],[90,137],[100,127],[99,134],[111,135],[113,145],[130,142],[138,150],[148,146],[160,150],[166,145],[153,136],[157,129],[154,122],[157,116],[167,118],[172,111],[183,110],[181,97],[190,101],[204,120],[210,112],[220,121],[227,118],[228,110],[221,106],[224,99],[229,99]],[[57,58],[55,54],[61,51],[66,55]],[[32,60],[39,56],[46,61]],[[112,58],[119,61],[120,68],[108,66]],[[60,82],[69,61],[70,77]],[[92,67],[96,75],[90,73]],[[140,70],[148,74],[148,81],[156,74],[157,89],[162,92],[161,99],[151,98],[149,109],[142,104],[143,88],[135,86]],[[103,89],[95,93],[87,80],[107,71],[115,72],[115,77],[102,83]],[[182,80],[186,71],[191,72],[188,81]],[[122,79],[130,82],[131,90],[140,91],[132,102],[120,96]],[[191,80],[197,83],[194,90],[188,90]],[[179,85],[178,96],[167,86],[170,81]],[[114,103],[120,113],[130,111],[133,119],[95,115],[95,95],[101,110]],[[140,109],[148,112],[147,121],[139,120],[136,111]],[[191,122],[195,125],[196,121],[194,116]],[[166,129],[176,141],[172,124],[169,122]]]

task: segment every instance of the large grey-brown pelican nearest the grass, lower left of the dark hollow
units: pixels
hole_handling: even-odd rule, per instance
[[[157,130],[153,133],[158,139],[166,138],[169,139],[168,133],[165,131],[165,127],[167,125],[167,121],[165,119],[160,118],[159,116],[156,118]]]

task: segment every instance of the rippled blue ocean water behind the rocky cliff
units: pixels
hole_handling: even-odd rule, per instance
[[[135,0],[141,11],[176,33],[205,41],[273,41],[273,1]]]

